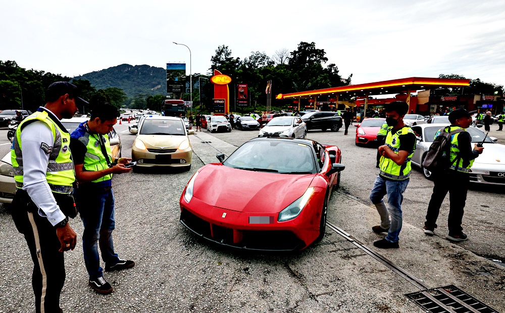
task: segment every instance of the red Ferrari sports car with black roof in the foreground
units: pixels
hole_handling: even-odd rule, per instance
[[[255,138],[207,164],[180,198],[181,223],[218,244],[305,249],[324,236],[328,199],[344,166],[340,149],[306,139]]]

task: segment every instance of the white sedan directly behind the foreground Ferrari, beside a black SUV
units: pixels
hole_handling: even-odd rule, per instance
[[[270,120],[258,137],[306,138],[307,124],[297,116],[279,116]]]

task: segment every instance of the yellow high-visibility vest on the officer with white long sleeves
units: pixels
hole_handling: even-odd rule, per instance
[[[45,177],[47,183],[52,185],[53,192],[68,193],[75,181],[74,163],[71,159],[69,144],[70,134],[65,128],[60,128],[49,116],[46,111],[37,111],[25,118],[16,130],[16,136],[11,146],[11,161],[14,167],[14,180],[16,187],[23,187],[23,147],[21,143],[21,131],[23,128],[34,121],[42,121],[49,126],[55,139],[53,147],[41,147],[48,151],[49,162]],[[44,143],[42,143],[43,145]],[[30,151],[27,151],[28,153]],[[25,155],[26,156],[26,155]],[[28,156],[29,157],[29,156]]]

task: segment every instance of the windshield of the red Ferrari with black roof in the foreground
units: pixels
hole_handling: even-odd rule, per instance
[[[317,172],[312,146],[287,140],[246,142],[223,164],[244,170],[283,174],[315,174]]]

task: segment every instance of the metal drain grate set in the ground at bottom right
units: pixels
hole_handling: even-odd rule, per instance
[[[453,285],[408,293],[406,296],[425,312],[498,313],[497,310],[490,308]]]

